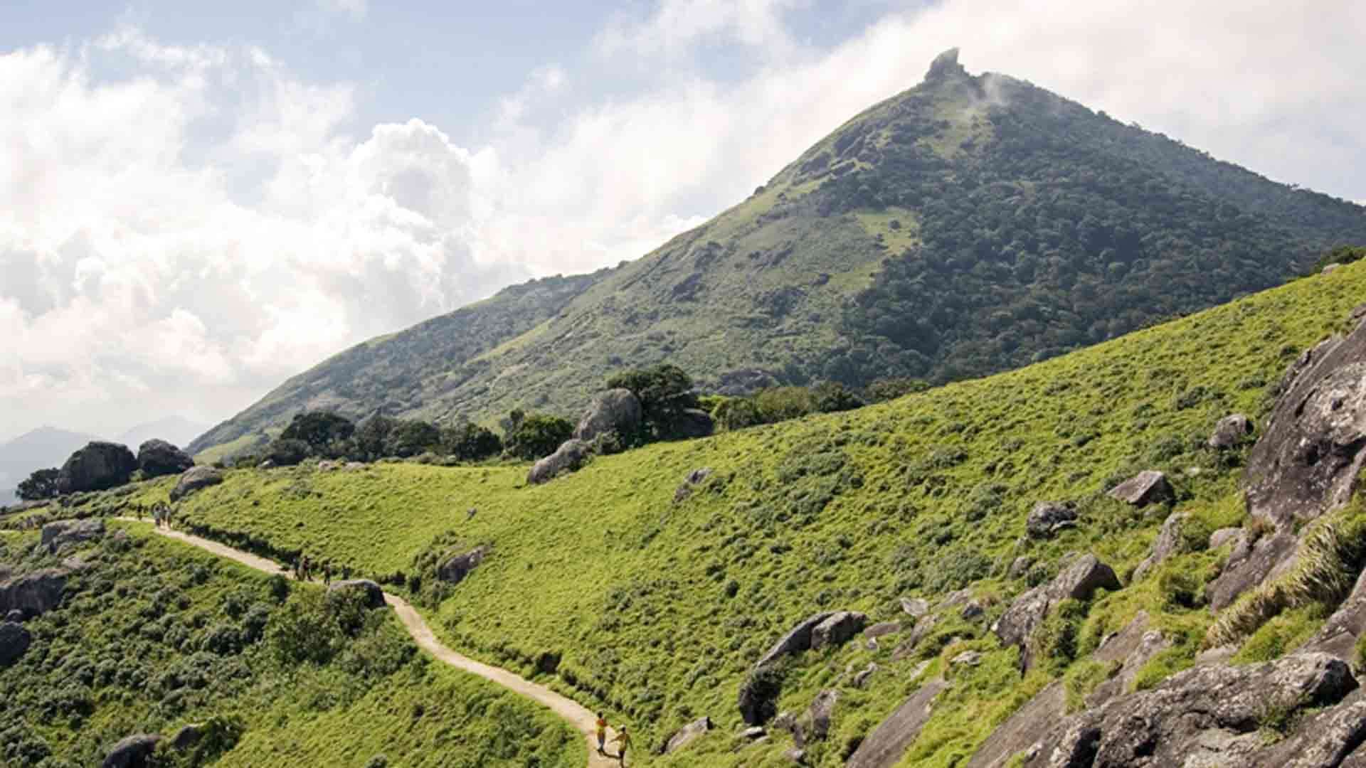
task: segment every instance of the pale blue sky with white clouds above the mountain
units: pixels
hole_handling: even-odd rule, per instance
[[[959,46],[1366,200],[1366,3],[0,4],[0,440],[216,422],[643,256]]]

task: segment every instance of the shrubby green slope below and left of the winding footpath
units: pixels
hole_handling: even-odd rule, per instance
[[[429,663],[389,611],[333,631],[318,588],[119,527],[131,536],[82,551],[63,605],[25,625],[34,644],[0,675],[0,764],[98,765],[126,735],[205,722],[239,731],[235,748],[176,765],[583,764],[549,712]],[[36,538],[4,532],[0,562],[53,564],[25,553]],[[326,657],[283,656],[291,627]]]

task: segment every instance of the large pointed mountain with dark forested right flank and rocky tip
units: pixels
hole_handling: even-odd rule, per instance
[[[973,77],[949,51],[643,258],[347,350],[191,450],[246,447],[303,409],[575,414],[609,372],[658,361],[720,392],[984,376],[1279,284],[1341,242],[1366,242],[1366,208]]]

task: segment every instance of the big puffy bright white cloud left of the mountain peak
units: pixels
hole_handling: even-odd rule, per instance
[[[350,89],[262,52],[20,49],[0,109],[0,432],[221,417],[529,275],[475,258],[471,153],[422,120],[350,138]]]

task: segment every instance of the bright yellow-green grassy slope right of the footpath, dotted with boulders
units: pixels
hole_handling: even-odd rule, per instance
[[[1287,364],[1341,329],[1363,297],[1366,268],[1351,265],[1016,372],[846,414],[654,444],[534,488],[522,486],[525,467],[242,470],[180,508],[191,523],[257,548],[423,575],[418,599],[452,645],[526,674],[540,655],[560,653],[549,682],[608,707],[647,746],[701,715],[717,723],[683,753],[650,760],[661,765],[783,764],[787,737],[732,752],[738,689],[777,637],[836,608],[908,626],[900,597],[934,603],[966,588],[985,618],[947,618],[897,660],[899,637],[877,650],[851,642],[806,653],[787,666],[779,702],[800,712],[817,690],[841,691],[831,739],[809,748],[813,764],[837,765],[921,681],[945,672],[941,701],[951,705],[936,709],[904,764],[955,765],[1053,676],[1090,690],[1096,670],[1072,660],[1139,609],[1176,642],[1139,685],[1190,664],[1210,622],[1203,579],[1227,555],[1205,551],[1201,532],[1243,517],[1242,454],[1203,441],[1228,413],[1259,420]],[[699,467],[713,469],[712,478],[675,503]],[[1183,553],[1128,584],[1172,510],[1137,511],[1102,492],[1143,469],[1171,476],[1173,508],[1191,512],[1195,533]],[[167,489],[143,485],[134,499]],[[1075,502],[1079,526],[1026,538],[1038,500]],[[448,594],[434,590],[423,552],[479,544],[492,547],[484,564]],[[1068,612],[1045,633],[1050,661],[1019,679],[1016,652],[1000,649],[986,627],[1076,551],[1111,563],[1126,588]],[[1009,578],[1019,556],[1033,564]],[[1244,657],[1279,653],[1285,638],[1276,633],[1300,637],[1321,618],[1279,619]],[[984,653],[979,666],[945,668],[944,657],[968,649]],[[855,689],[847,671],[869,661],[880,668]]]

